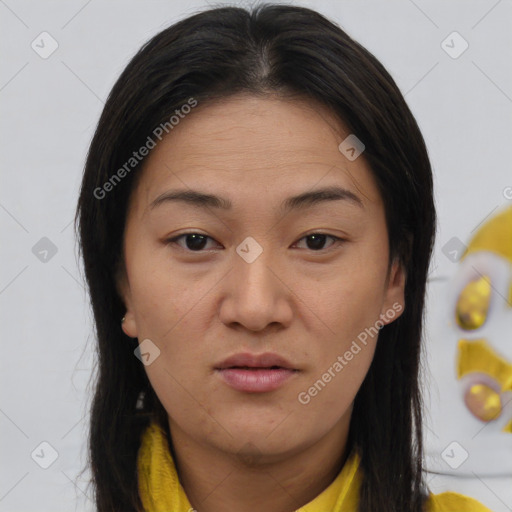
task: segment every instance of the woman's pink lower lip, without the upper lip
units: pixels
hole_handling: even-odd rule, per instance
[[[224,381],[237,391],[246,393],[266,393],[281,387],[295,373],[286,368],[244,370],[243,368],[226,368],[217,370]]]

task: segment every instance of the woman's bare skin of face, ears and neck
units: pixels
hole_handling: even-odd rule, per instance
[[[377,336],[307,405],[297,397],[365,328],[392,321],[382,315],[404,304],[405,282],[387,258],[384,206],[364,153],[351,162],[338,149],[349,133],[297,98],[198,105],[151,151],[133,191],[123,330],[161,351],[145,370],[168,413],[180,481],[200,512],[296,510],[348,456],[353,401]],[[326,186],[349,190],[361,205],[280,211],[289,196]],[[150,208],[170,189],[215,194],[232,208]],[[189,245],[187,237],[168,242],[185,232],[210,238],[199,252],[190,237]],[[315,246],[312,233],[344,241],[327,236]],[[248,236],[263,248],[252,263],[236,252]],[[299,371],[272,392],[240,392],[214,367],[241,352],[277,353]]]

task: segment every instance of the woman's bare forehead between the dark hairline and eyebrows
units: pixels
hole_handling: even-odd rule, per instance
[[[378,203],[365,159],[350,161],[338,148],[349,134],[326,107],[305,99],[240,95],[199,104],[147,157],[136,202],[146,210],[177,185],[229,190],[240,204],[337,185]]]

